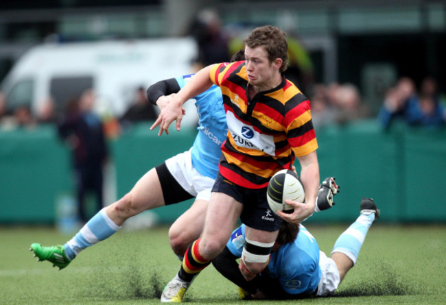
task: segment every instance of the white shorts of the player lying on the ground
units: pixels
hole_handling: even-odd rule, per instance
[[[319,251],[319,267],[321,275],[316,296],[333,295],[340,283],[338,267],[336,267],[334,260],[327,257],[322,251]]]

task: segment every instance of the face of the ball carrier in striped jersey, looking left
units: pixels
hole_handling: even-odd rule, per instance
[[[249,84],[264,87],[271,82],[274,75],[274,65],[268,60],[268,53],[264,47],[245,47],[246,73]]]

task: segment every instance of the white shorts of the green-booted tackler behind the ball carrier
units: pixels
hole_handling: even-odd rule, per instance
[[[197,199],[209,201],[214,179],[201,175],[192,165],[192,148],[165,160],[169,172],[181,187]]]

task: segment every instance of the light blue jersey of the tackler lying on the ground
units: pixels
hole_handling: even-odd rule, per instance
[[[242,256],[245,225],[231,234],[226,247],[237,257]],[[290,294],[313,293],[320,281],[319,246],[316,239],[303,225],[294,243],[281,245],[271,253],[268,271],[272,278],[279,278],[284,291]]]

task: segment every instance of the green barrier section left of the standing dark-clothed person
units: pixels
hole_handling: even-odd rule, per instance
[[[0,223],[53,223],[71,190],[69,151],[54,127],[0,132]]]

